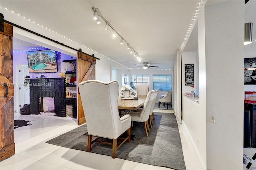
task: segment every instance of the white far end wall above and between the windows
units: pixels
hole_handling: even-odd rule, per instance
[[[153,75],[161,75],[161,74],[172,75],[172,70],[170,69],[130,69],[129,71],[129,75],[148,75],[149,82],[153,82]],[[127,78],[127,83],[130,84],[130,79],[128,78]],[[153,90],[153,83],[149,83],[148,89]],[[166,94],[166,91],[159,91],[156,99],[160,99],[161,95],[165,95],[165,94]]]

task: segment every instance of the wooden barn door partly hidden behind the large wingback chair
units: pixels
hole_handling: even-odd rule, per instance
[[[95,63],[96,59],[90,55],[78,52],[78,83],[86,80],[95,79]],[[82,106],[81,96],[78,89],[78,125],[86,122],[84,109]]]

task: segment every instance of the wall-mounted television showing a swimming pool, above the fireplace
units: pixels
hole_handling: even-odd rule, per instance
[[[29,73],[58,72],[56,51],[52,49],[28,51]]]

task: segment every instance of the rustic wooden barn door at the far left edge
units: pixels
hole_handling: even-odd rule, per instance
[[[15,154],[12,26],[4,23],[0,31],[0,160]]]

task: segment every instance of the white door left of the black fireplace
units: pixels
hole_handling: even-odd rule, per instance
[[[26,90],[26,87],[24,86],[24,78],[26,77],[26,75],[29,75],[28,65],[19,65],[18,69],[19,69],[19,72],[18,72],[18,83],[19,83],[18,105],[19,105],[19,107],[21,107],[24,104],[30,103],[29,87]]]

